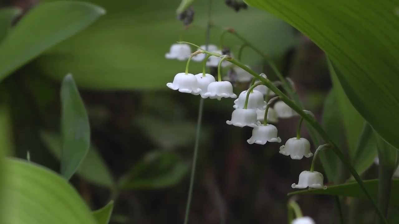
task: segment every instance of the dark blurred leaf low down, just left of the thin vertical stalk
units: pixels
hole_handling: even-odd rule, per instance
[[[119,181],[120,189],[159,189],[179,183],[189,165],[173,152],[146,154]]]

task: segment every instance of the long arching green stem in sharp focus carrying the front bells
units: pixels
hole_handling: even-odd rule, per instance
[[[185,43],[192,44],[192,43],[189,43],[189,42],[185,42]],[[211,52],[208,52],[208,51],[204,51],[204,52],[208,53],[208,54],[211,54],[211,55],[214,55],[216,57],[220,57],[221,56],[221,55],[219,55],[217,53],[211,53]],[[300,106],[296,105],[292,100],[290,100],[288,98],[288,96],[286,96],[283,92],[281,92],[279,90],[279,88],[275,87],[273,85],[273,83],[271,83],[271,81],[269,79],[265,79],[265,78],[261,77],[259,74],[255,73],[255,71],[251,70],[250,68],[245,66],[243,63],[241,63],[241,62],[239,62],[239,61],[237,61],[237,60],[235,60],[233,58],[229,58],[229,59],[226,59],[226,60],[231,62],[231,63],[233,63],[233,64],[235,64],[235,65],[237,65],[241,69],[243,69],[243,70],[247,71],[248,73],[250,73],[251,75],[253,75],[253,77],[256,77],[257,79],[262,81],[265,86],[270,88],[273,92],[275,92],[275,94],[277,94],[277,96],[280,97],[280,100],[285,102],[290,108],[292,108],[295,112],[297,112],[299,116],[301,116],[304,120],[306,120],[306,122],[308,122],[308,124],[310,124],[310,126],[312,126],[316,130],[316,132],[318,132],[318,134],[324,139],[324,141],[326,141],[327,143],[330,143],[330,145],[332,146],[332,148],[331,148],[332,151],[334,151],[334,153],[338,156],[338,158],[342,161],[342,163],[344,163],[345,167],[350,171],[352,176],[355,178],[356,182],[359,184],[360,189],[363,191],[363,193],[366,195],[367,199],[373,205],[373,208],[374,208],[375,212],[377,213],[377,215],[379,216],[379,218],[381,219],[381,222],[387,223],[387,220],[385,219],[383,213],[378,208],[378,206],[374,202],[373,198],[371,198],[370,194],[368,193],[367,189],[365,188],[365,186],[363,184],[363,181],[359,177],[359,174],[356,172],[354,167],[352,167],[349,159],[346,158],[346,156],[342,153],[342,151],[340,151],[338,149],[338,146],[336,145],[336,143],[334,143],[330,139],[330,137],[324,131],[322,126],[320,126],[320,124],[318,124],[318,122],[312,116],[306,114],[300,108]]]

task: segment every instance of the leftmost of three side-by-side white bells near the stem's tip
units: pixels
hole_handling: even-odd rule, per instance
[[[173,83],[167,83],[166,86],[179,92],[191,93],[198,95],[201,89],[198,88],[197,78],[191,73],[178,73],[173,79]]]

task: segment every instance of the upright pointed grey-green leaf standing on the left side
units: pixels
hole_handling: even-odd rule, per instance
[[[69,179],[85,159],[90,146],[89,118],[71,74],[62,82],[61,104],[61,174]]]

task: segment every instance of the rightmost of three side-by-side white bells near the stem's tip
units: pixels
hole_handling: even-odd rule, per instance
[[[229,81],[213,82],[208,85],[208,89],[204,94],[201,94],[202,98],[218,99],[221,98],[237,98],[237,95],[233,92],[233,85]]]

